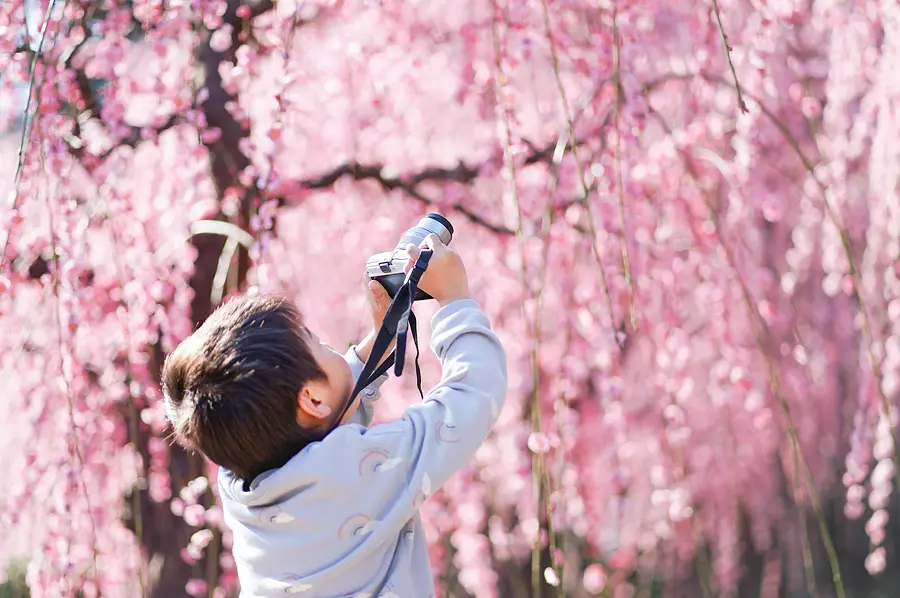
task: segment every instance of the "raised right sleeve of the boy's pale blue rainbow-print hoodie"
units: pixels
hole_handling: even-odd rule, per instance
[[[404,522],[475,454],[506,397],[506,355],[488,317],[470,299],[442,307],[432,319],[431,348],[441,362],[441,381],[401,419],[368,429],[342,426],[351,459],[342,469],[366,477],[357,493],[359,512]],[[350,447],[353,447],[352,449]],[[358,462],[356,461],[358,459]],[[388,505],[391,505],[388,507]]]

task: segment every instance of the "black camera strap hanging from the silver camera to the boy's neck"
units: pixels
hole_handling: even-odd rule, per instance
[[[378,330],[378,334],[375,337],[375,342],[372,344],[372,351],[369,353],[369,358],[366,360],[363,371],[360,373],[359,378],[356,381],[356,386],[353,388],[353,392],[350,393],[350,398],[347,399],[344,409],[335,420],[335,426],[344,419],[344,415],[346,415],[347,411],[350,409],[350,406],[353,404],[357,395],[387,372],[391,366],[394,366],[395,376],[400,376],[403,373],[403,366],[406,359],[406,336],[409,332],[412,332],[413,344],[416,346],[416,386],[419,389],[419,396],[423,399],[425,398],[425,395],[422,392],[422,370],[419,368],[419,338],[416,326],[416,315],[412,311],[412,306],[416,298],[416,293],[419,290],[419,279],[422,278],[422,274],[424,274],[425,270],[428,268],[428,262],[431,260],[432,254],[432,250],[422,249],[416,263],[407,273],[403,286],[401,286],[394,295],[391,305],[384,315],[384,321],[381,323],[381,328]],[[391,341],[395,338],[397,339],[396,348],[393,353],[384,360],[384,363],[379,365],[381,358],[387,353]]]

